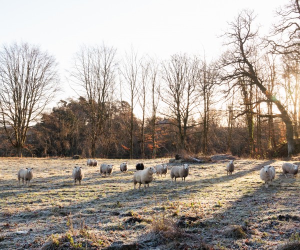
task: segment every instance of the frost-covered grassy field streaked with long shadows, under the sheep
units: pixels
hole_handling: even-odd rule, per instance
[[[299,243],[300,181],[284,177],[281,160],[238,159],[232,176],[226,175],[228,160],[190,164],[185,183],[171,183],[169,173],[155,175],[146,192],[133,190],[136,160],[128,161],[125,174],[122,160],[98,162],[114,164],[109,178],[86,159],[0,158],[0,249],[98,249],[126,242],[139,249],[285,249]],[[262,164],[276,169],[268,189],[259,178]],[[71,178],[76,165],[85,172],[81,186]],[[29,187],[18,185],[23,167],[33,167]]]

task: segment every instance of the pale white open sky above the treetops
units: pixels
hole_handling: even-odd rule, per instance
[[[0,44],[39,44],[59,62],[61,98],[75,95],[66,83],[79,45],[104,43],[119,56],[138,53],[167,59],[173,53],[220,54],[217,38],[243,8],[253,9],[262,31],[287,0],[0,0]],[[59,98],[58,98],[59,100]]]

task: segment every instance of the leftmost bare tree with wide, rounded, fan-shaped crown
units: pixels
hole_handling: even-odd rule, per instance
[[[56,66],[53,56],[26,42],[0,50],[0,124],[18,157],[28,127],[58,90]]]

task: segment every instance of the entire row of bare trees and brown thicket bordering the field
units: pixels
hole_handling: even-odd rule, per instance
[[[44,110],[59,86],[53,56],[27,43],[4,45],[0,155],[273,157],[284,144],[287,155],[296,153],[298,1],[277,16],[261,36],[253,11],[238,13],[222,36],[226,50],[211,61],[185,53],[158,60],[133,48],[120,59],[114,47],[82,45],[67,75],[78,95],[51,112]]]

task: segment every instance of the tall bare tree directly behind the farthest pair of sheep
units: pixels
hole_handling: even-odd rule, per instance
[[[91,157],[95,157],[96,142],[102,131],[105,112],[109,108],[110,93],[114,88],[115,49],[104,44],[82,45],[74,56],[72,79],[83,89],[84,105],[88,112],[89,129],[84,132],[90,139]]]

